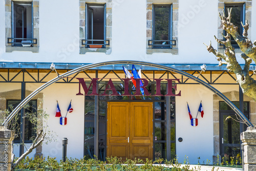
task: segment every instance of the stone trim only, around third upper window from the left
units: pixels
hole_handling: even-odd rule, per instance
[[[176,40],[176,46],[172,49],[152,49],[148,46],[148,40],[152,40],[152,16],[153,16],[153,4],[173,4],[173,39]],[[172,53],[178,55],[178,10],[179,0],[146,0],[146,54],[153,53]]]

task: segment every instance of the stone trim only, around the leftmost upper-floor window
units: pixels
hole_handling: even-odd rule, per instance
[[[37,44],[33,47],[14,47],[8,44],[8,37],[12,36],[12,1],[5,0],[5,46],[6,52],[31,51],[39,52],[39,0],[22,0],[22,2],[33,2],[33,37],[37,39]]]

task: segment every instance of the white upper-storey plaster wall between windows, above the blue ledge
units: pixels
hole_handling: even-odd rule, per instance
[[[0,22],[5,23],[4,0],[0,0]],[[217,47],[218,3],[209,0],[179,1],[179,54],[146,55],[146,1],[113,1],[112,53],[79,55],[79,2],[39,2],[39,53],[5,52],[5,26],[0,25],[0,61],[100,62],[140,60],[159,63],[217,63],[203,42]],[[174,25],[174,29],[177,26]],[[2,52],[2,53],[1,53]]]

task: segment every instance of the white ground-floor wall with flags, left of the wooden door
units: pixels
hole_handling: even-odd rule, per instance
[[[84,131],[84,96],[76,96],[77,84],[53,84],[44,90],[44,110],[50,114],[47,125],[55,132],[57,142],[42,146],[44,156],[62,157],[62,138],[68,138],[67,157],[83,157]],[[55,117],[58,100],[61,115],[65,116],[72,99],[74,111],[67,114],[67,125],[59,124],[59,117]]]

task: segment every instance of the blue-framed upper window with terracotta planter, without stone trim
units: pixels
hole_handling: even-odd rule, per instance
[[[86,39],[82,45],[86,48],[105,48],[106,40],[106,4],[86,4]]]

